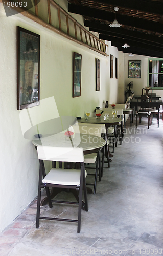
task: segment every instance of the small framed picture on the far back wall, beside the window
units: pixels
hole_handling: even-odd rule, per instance
[[[128,61],[128,78],[141,78],[141,60]]]

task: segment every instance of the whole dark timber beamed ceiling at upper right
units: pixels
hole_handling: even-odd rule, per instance
[[[82,15],[85,27],[119,51],[163,58],[163,0],[68,0],[68,11]],[[115,13],[122,27],[109,26]],[[122,48],[125,42],[129,48]]]

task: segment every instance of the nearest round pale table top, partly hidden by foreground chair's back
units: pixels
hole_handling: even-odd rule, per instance
[[[98,148],[101,148],[106,144],[106,141],[98,136],[79,133],[75,133],[75,137],[71,141],[69,138],[66,140],[64,132],[61,132],[50,136],[44,135],[40,139],[32,140],[32,143],[35,146],[81,147],[83,148],[83,151],[94,150],[96,152]]]

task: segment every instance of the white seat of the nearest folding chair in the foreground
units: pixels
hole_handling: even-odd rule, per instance
[[[58,185],[80,185],[80,169],[56,169],[52,168],[42,183],[58,184]],[[85,177],[86,177],[85,170]]]

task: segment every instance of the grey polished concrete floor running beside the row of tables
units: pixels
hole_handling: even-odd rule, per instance
[[[76,223],[58,221],[40,220],[36,229],[35,199],[0,234],[0,255],[163,255],[163,123],[158,129],[154,119],[147,129],[143,118],[138,129],[134,125],[115,148],[110,168],[105,164],[96,194],[88,195],[80,233]],[[43,206],[41,212],[73,217],[77,206]]]

